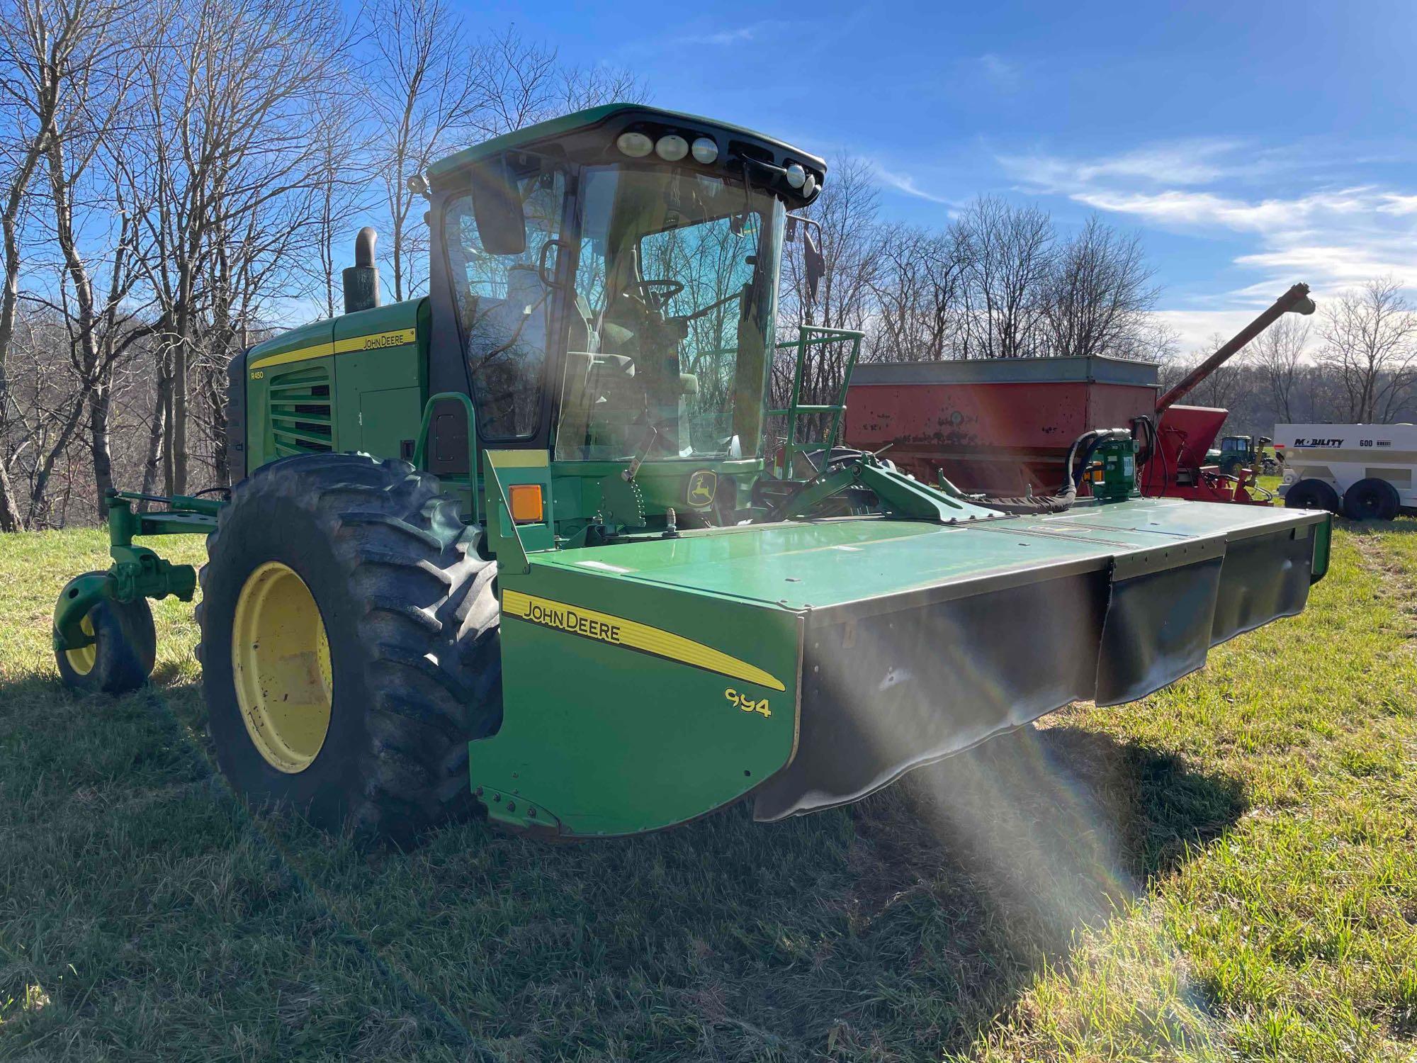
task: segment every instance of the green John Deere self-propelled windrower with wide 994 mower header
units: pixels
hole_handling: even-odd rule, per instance
[[[860,334],[778,320],[784,245],[820,272],[826,179],[642,105],[415,176],[428,295],[376,305],[366,230],[344,315],[235,359],[230,497],[112,499],[113,566],[55,611],[64,677],[143,682],[146,598],[193,573],[133,539],[208,532],[200,658],[241,792],[384,836],[478,808],[608,836],[854,801],[1304,608],[1328,514],[1136,497],[1127,431],[998,505],[836,446],[846,380],[811,405],[803,371],[837,346],[849,377]]]

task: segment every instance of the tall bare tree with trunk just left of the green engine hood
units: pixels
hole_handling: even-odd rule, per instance
[[[213,299],[227,300],[218,313],[230,329],[231,295],[208,282],[238,268],[230,241],[245,241],[238,257],[278,259],[312,231],[322,162],[313,125],[346,38],[329,0],[188,0],[166,9],[149,41],[142,103],[152,153],[130,176],[156,203],[143,215],[142,262],[170,359],[159,369],[164,486],[181,493],[188,376]],[[225,265],[211,262],[218,254]]]

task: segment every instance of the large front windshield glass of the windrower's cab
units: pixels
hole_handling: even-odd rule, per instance
[[[587,167],[558,461],[751,458],[784,207],[672,169]]]

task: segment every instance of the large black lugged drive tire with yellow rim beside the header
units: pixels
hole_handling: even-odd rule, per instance
[[[436,478],[299,455],[231,492],[201,570],[217,761],[254,804],[407,842],[472,808],[502,721],[496,561]]]

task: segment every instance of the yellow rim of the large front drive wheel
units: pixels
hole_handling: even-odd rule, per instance
[[[241,720],[272,768],[305,771],[330,730],[330,641],[305,580],[266,561],[247,577],[231,624]]]

